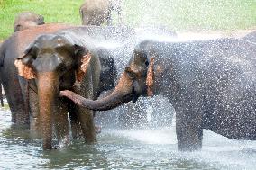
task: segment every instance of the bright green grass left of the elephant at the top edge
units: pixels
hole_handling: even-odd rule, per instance
[[[1,0],[0,40],[14,31],[16,13],[31,11],[44,16],[45,22],[68,22],[79,24],[79,7],[84,0]]]

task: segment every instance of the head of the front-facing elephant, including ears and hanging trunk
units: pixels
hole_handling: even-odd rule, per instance
[[[15,60],[20,76],[35,79],[38,87],[43,148],[51,148],[51,114],[58,108],[59,90],[71,89],[81,81],[90,61],[88,50],[63,35],[39,36]]]

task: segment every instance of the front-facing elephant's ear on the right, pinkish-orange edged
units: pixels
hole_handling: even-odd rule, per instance
[[[78,69],[76,71],[76,79],[81,82],[85,74],[87,73],[87,68],[90,65],[90,60],[92,58],[91,53],[85,47],[76,46],[76,54],[78,55]]]

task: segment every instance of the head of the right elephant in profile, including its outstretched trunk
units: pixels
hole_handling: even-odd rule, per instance
[[[145,43],[147,44],[147,43]],[[143,44],[142,44],[143,45]],[[153,51],[146,52],[142,46],[133,51],[133,56],[116,85],[114,92],[101,100],[91,101],[68,90],[61,91],[61,96],[66,96],[78,105],[94,111],[113,109],[123,103],[133,101],[139,96],[151,95],[153,84]]]

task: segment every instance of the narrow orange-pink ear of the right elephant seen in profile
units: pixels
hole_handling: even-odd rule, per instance
[[[155,58],[153,58],[153,57],[150,59],[150,65],[149,65],[149,68],[148,68],[147,79],[146,79],[146,85],[148,87],[147,88],[148,96],[153,95],[152,87],[154,85],[154,68],[153,68],[154,59]]]

